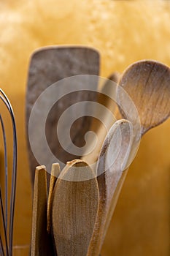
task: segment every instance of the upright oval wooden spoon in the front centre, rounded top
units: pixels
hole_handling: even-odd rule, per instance
[[[53,191],[52,223],[58,256],[87,254],[98,211],[98,184],[82,160],[68,162]]]

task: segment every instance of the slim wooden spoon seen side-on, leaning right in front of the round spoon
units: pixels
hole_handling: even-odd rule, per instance
[[[101,251],[110,203],[128,161],[132,138],[133,129],[131,123],[127,120],[119,120],[109,130],[101,148],[97,167],[99,189],[98,216],[88,248],[88,256],[99,255]]]

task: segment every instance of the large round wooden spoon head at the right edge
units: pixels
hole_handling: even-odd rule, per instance
[[[158,61],[137,61],[120,79],[138,110],[142,135],[170,116],[170,69]],[[122,111],[120,110],[122,113]],[[123,117],[124,114],[122,113]]]

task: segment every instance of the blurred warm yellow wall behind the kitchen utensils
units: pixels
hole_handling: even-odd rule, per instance
[[[169,24],[169,1],[0,1],[0,84],[12,102],[18,128],[15,245],[29,244],[31,233],[25,94],[33,50],[63,44],[96,47],[102,76],[123,72],[139,59],[170,65]],[[102,256],[169,255],[169,129],[166,121],[142,139]]]

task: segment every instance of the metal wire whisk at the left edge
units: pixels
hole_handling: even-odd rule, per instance
[[[1,181],[0,181],[0,208],[1,208],[1,220],[2,220],[2,230],[0,233],[0,255],[2,256],[12,256],[12,244],[13,244],[13,223],[14,223],[14,211],[15,211],[15,190],[16,190],[16,178],[17,178],[17,133],[16,133],[16,124],[15,124],[15,116],[12,110],[12,106],[7,98],[4,91],[0,89],[0,99],[4,103],[9,112],[11,121],[12,121],[12,151],[13,151],[13,159],[12,159],[12,184],[11,184],[11,192],[10,198],[8,195],[8,187],[9,187],[9,166],[8,166],[8,153],[7,153],[7,136],[5,132],[4,121],[0,113],[0,124],[1,124],[1,132],[3,138],[3,146],[4,146],[4,200],[3,193],[1,190]],[[8,211],[8,198],[10,200],[10,207]],[[8,222],[9,215],[9,222]],[[4,238],[4,239],[3,239]]]

